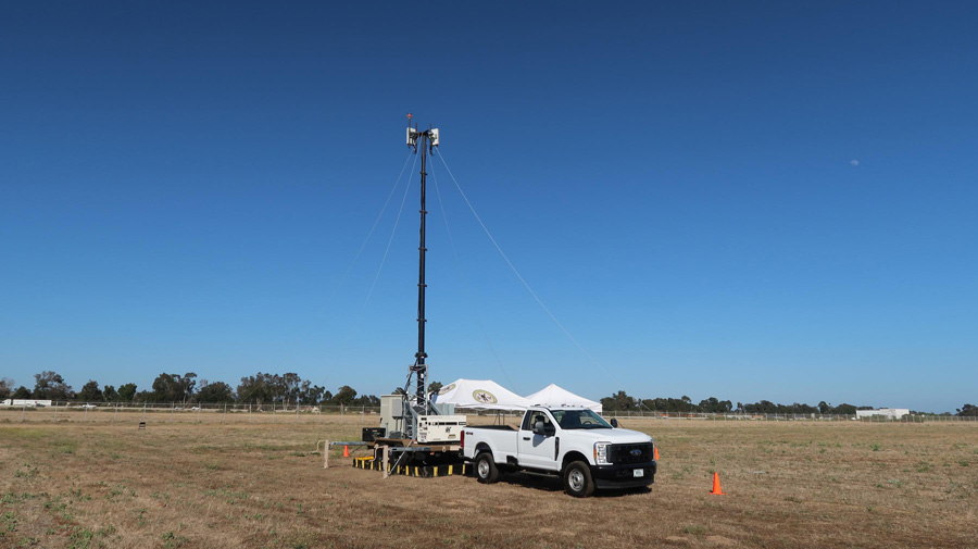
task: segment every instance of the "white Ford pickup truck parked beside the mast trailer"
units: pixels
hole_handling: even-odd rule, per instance
[[[616,422],[614,422],[616,423]],[[526,411],[519,429],[509,425],[466,425],[462,454],[475,462],[480,483],[500,472],[560,475],[564,490],[578,498],[595,488],[634,488],[655,481],[652,439],[617,428],[587,408]]]

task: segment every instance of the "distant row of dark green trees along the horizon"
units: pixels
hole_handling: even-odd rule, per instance
[[[135,383],[120,385],[105,385],[89,379],[80,390],[75,391],[64,382],[64,378],[55,373],[43,371],[34,374],[34,389],[26,386],[14,388],[13,379],[0,378],[0,400],[36,399],[79,402],[181,402],[181,403],[250,403],[250,404],[294,404],[294,405],[349,405],[349,407],[379,407],[380,399],[375,395],[360,395],[349,385],[337,389],[336,394],[324,387],[313,385],[309,379],[302,379],[296,373],[269,374],[259,372],[255,375],[241,377],[237,387],[224,382],[198,380],[197,374],[187,372],[180,374],[161,373],[153,380],[150,389],[137,391]],[[439,382],[428,385],[431,392],[441,388]],[[402,392],[396,388],[391,392]],[[619,390],[601,399],[601,405],[607,412],[674,412],[674,413],[747,413],[747,414],[837,414],[854,415],[856,410],[874,410],[874,407],[854,405],[842,403],[831,405],[826,401],[818,405],[804,403],[776,404],[769,400],[742,403],[735,405],[730,400],[718,400],[710,397],[693,403],[687,396],[680,398],[650,398],[639,399],[628,396]],[[978,416],[978,405],[964,404],[956,410],[958,416]],[[929,413],[911,411],[914,414]],[[944,412],[941,415],[952,415]]]

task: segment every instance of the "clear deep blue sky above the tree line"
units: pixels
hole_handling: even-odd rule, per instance
[[[353,258],[412,112],[601,364],[435,160],[434,379],[953,411],[976,27],[974,2],[5,2],[0,375],[402,384],[416,167],[366,307],[404,180]]]

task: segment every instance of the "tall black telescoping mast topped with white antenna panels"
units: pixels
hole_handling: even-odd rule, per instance
[[[425,352],[425,288],[427,285],[425,284],[425,252],[428,249],[425,247],[425,217],[428,212],[425,210],[425,178],[427,177],[426,171],[426,161],[428,159],[428,153],[434,154],[435,148],[438,147],[438,128],[428,127],[428,129],[424,132],[419,132],[417,129],[417,124],[414,127],[411,127],[411,120],[413,116],[408,114],[408,147],[414,150],[416,154],[418,148],[422,153],[422,171],[421,171],[421,235],[419,240],[421,244],[417,247],[418,260],[417,260],[417,352],[414,354],[414,365],[411,366],[411,373],[417,376],[417,408],[421,413],[428,412],[428,396],[427,396],[427,385],[428,385],[428,366],[425,364],[425,359],[428,357],[428,353]],[[409,377],[410,385],[410,377]]]

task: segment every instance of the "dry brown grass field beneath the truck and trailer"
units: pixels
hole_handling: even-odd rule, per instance
[[[974,423],[626,421],[660,445],[655,484],[581,500],[384,479],[340,450],[324,470],[316,440],[376,416],[98,414],[0,412],[0,547],[978,548]]]

